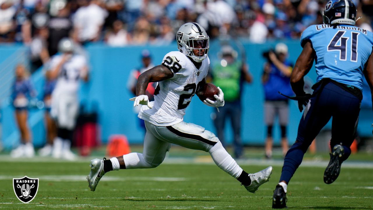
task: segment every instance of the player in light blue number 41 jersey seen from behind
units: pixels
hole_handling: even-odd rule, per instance
[[[324,182],[334,182],[341,164],[351,154],[362,96],[363,74],[373,95],[373,34],[355,27],[356,7],[351,0],[332,0],[324,10],[324,24],[311,25],[301,36],[303,51],[290,83],[301,117],[298,136],[285,156],[280,182],[273,194],[272,208],[286,207],[286,191],[313,139],[333,117],[330,161]],[[317,83],[314,93],[303,91],[303,77],[315,61]]]

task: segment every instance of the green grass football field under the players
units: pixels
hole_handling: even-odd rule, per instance
[[[281,160],[261,160],[260,166],[242,162],[249,173],[275,164],[270,181],[251,194],[202,155],[206,154],[197,153],[199,158],[181,164],[166,161],[155,169],[109,172],[95,192],[85,179],[89,159],[71,163],[1,158],[0,209],[271,209]],[[371,154],[359,155],[372,160]],[[288,187],[289,209],[373,209],[372,161],[366,163],[370,165],[365,169],[353,168],[354,160],[349,167],[342,165],[341,175],[331,185],[323,183],[325,162],[301,166]],[[28,204],[16,198],[12,186],[13,178],[25,175],[40,182],[37,196]]]

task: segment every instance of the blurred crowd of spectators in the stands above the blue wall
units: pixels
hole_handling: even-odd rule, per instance
[[[355,0],[360,27],[372,29],[373,1]],[[40,66],[63,37],[111,46],[168,44],[185,22],[219,36],[298,38],[321,24],[325,0],[0,0],[0,42],[30,46]]]

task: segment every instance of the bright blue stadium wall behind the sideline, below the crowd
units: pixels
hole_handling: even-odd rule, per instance
[[[223,42],[226,42],[223,41]],[[274,48],[277,42],[270,41],[265,44],[253,44],[242,41],[237,44],[234,40],[228,41],[239,52],[239,58],[244,55],[247,63],[250,65],[250,72],[254,81],[252,84],[244,85],[242,95],[242,140],[248,145],[264,145],[266,130],[264,126],[264,95],[261,84],[261,74],[263,65],[266,61],[262,53],[270,48]],[[289,59],[295,63],[297,56],[302,48],[298,40],[283,41],[289,47]],[[217,52],[222,41],[211,42],[209,57],[211,64],[217,61]],[[81,103],[84,105],[83,112],[91,112],[97,109],[100,122],[100,139],[107,142],[112,134],[124,134],[130,143],[142,143],[144,131],[139,126],[140,122],[137,114],[134,112],[131,92],[127,89],[127,80],[129,72],[141,65],[140,54],[143,49],[151,52],[153,63],[161,63],[163,56],[177,50],[175,44],[169,46],[128,46],[128,47],[109,47],[104,44],[91,44],[87,46],[90,63],[90,81],[82,83],[80,90]],[[1,48],[0,48],[1,52]],[[245,52],[245,53],[244,53]],[[308,81],[316,81],[316,72],[314,67],[307,75]],[[43,77],[41,70],[32,75],[32,80],[36,83],[40,96]],[[369,92],[368,92],[369,93]],[[41,98],[41,97],[39,97]],[[362,136],[371,136],[371,120],[373,119],[370,95],[365,96],[366,107],[362,107],[360,113],[360,122],[358,132]],[[19,135],[16,132],[14,123],[13,108],[9,104],[2,106],[3,118],[3,144],[10,148],[18,143]],[[194,97],[189,107],[186,109],[184,121],[198,124],[212,132],[215,132],[211,120],[214,109],[203,105],[203,103]],[[290,102],[289,116],[289,143],[295,141],[297,135],[298,123],[301,113],[298,110],[297,102]],[[41,146],[46,141],[43,127],[43,111],[32,111],[29,117],[31,123],[33,139],[35,146]],[[226,126],[227,142],[232,141],[230,123]],[[326,129],[330,129],[330,122]],[[274,130],[275,144],[279,145],[280,130],[276,126]]]

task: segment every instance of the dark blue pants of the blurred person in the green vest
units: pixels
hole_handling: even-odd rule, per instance
[[[225,121],[228,117],[231,118],[233,130],[233,150],[235,158],[242,155],[242,142],[241,142],[241,102],[239,100],[233,102],[225,102],[224,106],[219,107],[219,112],[215,110],[216,119],[214,125],[216,128],[216,136],[225,146],[224,128]]]

